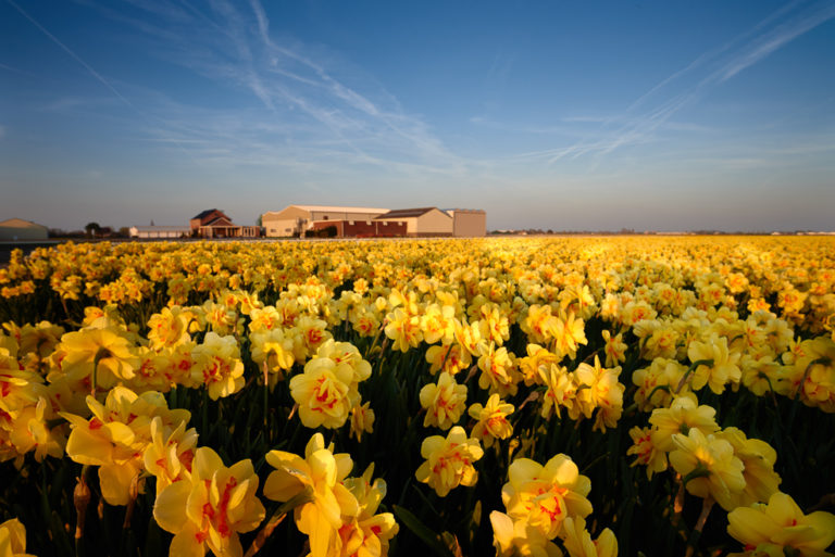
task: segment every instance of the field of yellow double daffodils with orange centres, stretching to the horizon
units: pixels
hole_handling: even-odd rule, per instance
[[[0,268],[0,556],[822,556],[835,240],[96,243]]]

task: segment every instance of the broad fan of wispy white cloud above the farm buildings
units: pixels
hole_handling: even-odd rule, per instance
[[[321,47],[314,50],[275,36],[259,0],[246,4],[211,0],[208,7],[129,1],[140,15],[117,12],[108,4],[98,8],[130,24],[161,60],[213,80],[220,90],[248,91],[260,104],[238,101],[237,106],[210,112],[199,98],[167,99],[153,109],[161,122],[151,126],[151,137],[162,143],[182,140],[195,156],[229,164],[237,160],[238,164],[269,161],[303,166],[324,161],[448,175],[465,173],[472,164],[451,152],[421,117],[403,111],[373,78],[351,67],[350,61],[323,53]],[[175,104],[180,112],[171,110]],[[228,124],[235,119],[233,113],[246,123],[232,126],[236,135],[187,117],[202,114],[210,123]],[[251,150],[245,152],[237,144]]]

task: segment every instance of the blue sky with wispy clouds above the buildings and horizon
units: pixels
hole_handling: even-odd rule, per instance
[[[831,1],[0,0],[0,219],[835,229]]]

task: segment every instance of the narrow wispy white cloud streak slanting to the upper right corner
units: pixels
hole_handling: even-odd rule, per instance
[[[587,132],[585,139],[564,147],[522,153],[514,159],[552,164],[563,159],[593,155],[599,161],[623,147],[655,141],[662,127],[682,129],[681,124],[670,122],[675,114],[705,98],[718,85],[833,17],[835,3],[826,0],[787,4],[734,40],[701,54],[674,72],[636,99],[623,113],[600,118],[577,116],[566,119],[599,122],[599,128]]]

